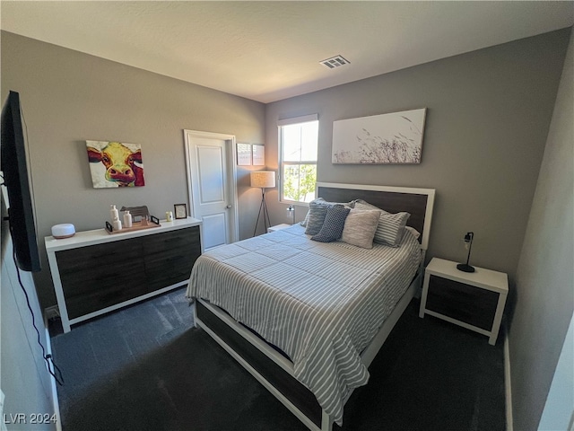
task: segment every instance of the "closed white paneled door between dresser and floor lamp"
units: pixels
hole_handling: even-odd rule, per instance
[[[202,220],[204,249],[237,241],[235,136],[185,130],[192,216]]]

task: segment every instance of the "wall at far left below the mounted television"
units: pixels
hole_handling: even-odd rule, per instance
[[[4,199],[2,201],[2,215]],[[50,375],[45,366],[38,336],[32,326],[32,316],[26,304],[26,297],[18,282],[13,262],[12,239],[7,222],[2,222],[2,275],[0,276],[0,388],[4,391],[4,417],[11,422],[10,415],[47,413],[54,414]],[[38,296],[29,272],[21,271],[22,284],[30,297],[30,306],[36,318],[41,340],[46,347],[46,337]],[[30,425],[7,426],[10,430],[30,429]],[[34,429],[56,429],[54,423],[36,426]]]

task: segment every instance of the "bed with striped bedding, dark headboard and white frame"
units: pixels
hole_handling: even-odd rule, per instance
[[[434,189],[317,183],[317,197],[407,212],[420,235],[404,229],[395,247],[368,249],[311,241],[295,224],[204,253],[187,297],[197,326],[309,429],[326,431],[342,424],[344,403],[368,382],[370,362],[421,286]]]

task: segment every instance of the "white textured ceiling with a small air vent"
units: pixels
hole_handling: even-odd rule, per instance
[[[574,24],[574,2],[2,1],[1,28],[278,101]],[[342,55],[350,65],[319,64]]]

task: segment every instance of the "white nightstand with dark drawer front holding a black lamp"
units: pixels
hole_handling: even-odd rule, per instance
[[[474,268],[474,272],[463,272],[457,269],[457,262],[433,258],[424,273],[419,317],[427,313],[474,330],[488,336],[494,346],[509,294],[509,277]]]

